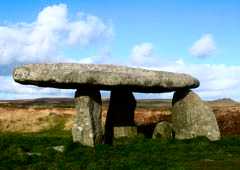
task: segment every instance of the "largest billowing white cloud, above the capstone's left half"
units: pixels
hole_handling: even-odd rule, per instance
[[[65,4],[48,6],[32,23],[0,26],[0,64],[71,61],[61,55],[64,47],[83,48],[112,34],[97,16],[81,13],[70,20]]]

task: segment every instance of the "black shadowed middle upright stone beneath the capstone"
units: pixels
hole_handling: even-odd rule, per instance
[[[129,90],[111,91],[110,103],[105,124],[105,143],[112,144],[114,126],[134,126],[136,100]]]

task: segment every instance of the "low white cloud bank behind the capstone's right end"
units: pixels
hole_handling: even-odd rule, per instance
[[[182,61],[152,69],[187,73],[198,78],[200,87],[196,91],[204,99],[234,98],[240,100],[240,66],[189,64]]]

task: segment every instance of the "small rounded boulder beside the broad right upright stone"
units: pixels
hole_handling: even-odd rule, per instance
[[[166,121],[159,122],[153,131],[153,139],[171,139],[173,137],[172,125]]]

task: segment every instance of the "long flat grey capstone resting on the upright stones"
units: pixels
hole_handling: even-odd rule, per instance
[[[13,78],[18,83],[40,87],[101,90],[122,88],[153,93],[199,86],[199,81],[187,74],[95,64],[29,64],[16,68]]]

